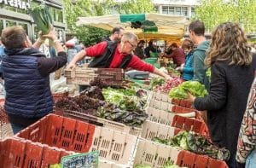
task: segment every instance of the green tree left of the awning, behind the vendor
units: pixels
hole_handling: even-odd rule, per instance
[[[92,45],[110,34],[109,31],[92,26],[76,26],[76,22],[78,17],[109,14],[110,6],[113,5],[112,0],[106,0],[104,4],[100,0],[94,1],[94,3],[91,3],[90,0],[63,0],[63,2],[67,28],[81,43],[86,46]]]

